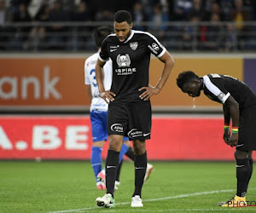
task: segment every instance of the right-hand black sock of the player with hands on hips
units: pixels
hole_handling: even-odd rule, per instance
[[[142,188],[144,182],[144,176],[147,170],[147,152],[143,153],[143,155],[135,155],[134,158],[134,166],[135,166],[135,190],[132,195],[139,195],[142,198]]]

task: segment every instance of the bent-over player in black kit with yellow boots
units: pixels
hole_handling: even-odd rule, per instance
[[[247,186],[253,173],[253,150],[256,150],[256,95],[247,84],[230,76],[209,74],[202,78],[194,72],[182,72],[177,77],[177,86],[191,97],[201,90],[212,101],[223,104],[224,141],[236,147],[236,196],[218,205],[223,207],[245,206]],[[232,130],[230,130],[232,120]]]

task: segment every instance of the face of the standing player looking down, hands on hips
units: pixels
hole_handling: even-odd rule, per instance
[[[121,23],[114,21],[113,28],[116,36],[119,38],[119,42],[125,42],[127,37],[131,35],[132,24],[129,25],[127,21]]]

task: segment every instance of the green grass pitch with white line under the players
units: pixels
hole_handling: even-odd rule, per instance
[[[141,209],[133,209],[134,169],[125,162],[114,209],[96,206],[90,162],[0,161],[0,212],[256,212],[256,207],[224,209],[220,201],[236,193],[236,164],[150,162],[154,171],[143,187]],[[253,175],[247,200],[256,200]]]

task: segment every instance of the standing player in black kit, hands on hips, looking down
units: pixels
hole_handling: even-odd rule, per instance
[[[109,102],[108,135],[109,147],[106,159],[107,193],[96,199],[98,206],[113,207],[113,188],[116,169],[119,165],[119,151],[123,136],[133,142],[135,153],[135,190],[131,207],[143,207],[142,187],[147,169],[145,140],[150,139],[151,104],[150,97],[158,95],[172,72],[174,60],[156,37],[148,32],[132,30],[131,14],[119,10],[113,17],[114,32],[102,43],[102,51],[96,64],[96,80],[101,97]],[[154,54],[164,68],[158,83],[148,84],[150,55]],[[106,91],[102,83],[102,66],[113,60],[113,82]]]

